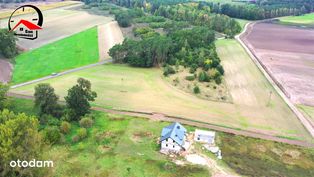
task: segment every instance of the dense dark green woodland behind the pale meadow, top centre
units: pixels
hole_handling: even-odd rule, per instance
[[[204,72],[198,74],[202,82],[214,80],[220,84],[224,74],[214,45],[215,31],[230,38],[241,31],[234,19],[212,14],[199,3],[161,5],[153,14],[139,8],[114,9],[111,13],[122,27],[132,23],[149,24],[133,30],[140,40],[125,39],[110,50],[109,55],[116,63],[136,67],[163,66],[165,76],[175,73],[172,66],[184,66],[190,73],[201,68]],[[165,34],[154,28],[162,28]]]

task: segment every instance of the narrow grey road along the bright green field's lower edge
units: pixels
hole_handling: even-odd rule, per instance
[[[17,84],[17,85],[13,85],[10,88],[11,89],[15,89],[15,88],[23,87],[23,86],[26,86],[26,85],[34,84],[34,83],[45,81],[45,80],[48,80],[48,79],[53,79],[53,78],[56,78],[56,77],[59,77],[59,76],[63,76],[63,75],[66,75],[66,74],[70,74],[70,73],[81,71],[81,70],[88,69],[88,68],[93,68],[93,67],[96,67],[96,66],[99,66],[99,65],[110,63],[110,62],[112,62],[112,59],[106,59],[106,60],[103,60],[103,61],[100,61],[100,62],[97,62],[97,63],[93,63],[93,64],[90,64],[90,65],[85,65],[85,66],[82,66],[82,67],[79,67],[79,68],[66,70],[66,71],[57,73],[56,75],[49,75],[49,76],[45,76],[45,77],[42,77],[42,78],[39,78],[39,79],[35,79],[35,80],[31,80],[31,81],[20,83],[20,84]]]

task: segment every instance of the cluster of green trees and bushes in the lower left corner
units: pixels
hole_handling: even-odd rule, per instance
[[[91,90],[90,81],[79,78],[68,90],[66,105],[60,105],[52,86],[38,84],[34,93],[34,109],[38,110],[38,115],[30,116],[9,111],[16,108],[12,108],[8,90],[8,85],[0,83],[0,176],[45,176],[47,169],[12,168],[10,161],[44,160],[43,152],[49,145],[59,143],[62,135],[69,133],[69,122],[79,122],[82,127],[73,136],[73,142],[85,138],[86,128],[93,123],[89,102],[94,101],[97,94]]]

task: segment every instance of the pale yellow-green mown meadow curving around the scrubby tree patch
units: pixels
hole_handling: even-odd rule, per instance
[[[244,64],[231,63],[233,68],[225,66],[226,70],[237,72],[243,82],[230,87],[231,92],[241,94],[237,97],[235,95],[234,104],[203,100],[181,91],[171,86],[158,68],[107,64],[44,82],[50,83],[63,99],[76,80],[83,77],[91,81],[92,89],[98,94],[93,106],[159,112],[224,127],[310,140],[298,119],[276,94],[269,101],[271,86],[240,45],[232,40],[221,42],[217,44],[217,48],[224,63],[240,60]],[[231,76],[226,75],[227,84],[232,81],[228,77]],[[12,89],[11,92],[32,95],[35,85]]]

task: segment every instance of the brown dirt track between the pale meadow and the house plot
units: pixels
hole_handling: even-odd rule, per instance
[[[12,93],[12,92],[9,92],[7,95],[10,97],[34,100],[34,96],[30,96],[30,95],[23,95],[23,94]],[[65,101],[59,101],[59,103],[65,104]],[[261,132],[254,132],[254,131],[241,130],[241,129],[232,128],[232,127],[225,127],[222,125],[196,121],[196,120],[186,118],[186,117],[171,116],[171,115],[166,115],[163,113],[156,113],[156,112],[121,110],[121,109],[115,109],[115,108],[108,109],[108,108],[102,108],[98,106],[92,106],[91,109],[94,111],[100,111],[100,112],[105,112],[105,113],[110,113],[110,114],[120,114],[120,115],[134,116],[134,117],[142,117],[142,118],[151,119],[155,121],[180,122],[186,125],[195,126],[199,128],[208,128],[208,129],[212,129],[218,132],[225,132],[225,133],[241,135],[245,137],[264,139],[264,140],[286,143],[290,145],[297,145],[297,146],[302,146],[302,147],[307,147],[307,148],[314,148],[314,144],[311,142],[306,142],[306,141],[301,141],[301,140],[291,140],[284,137],[273,136],[273,135],[269,135],[269,134],[265,134]]]

